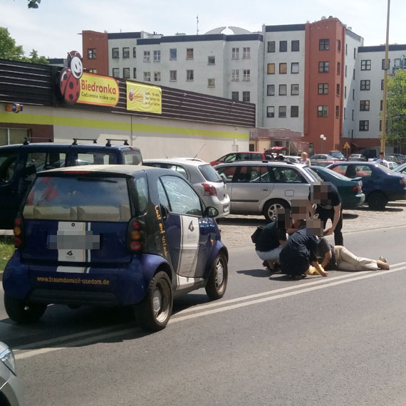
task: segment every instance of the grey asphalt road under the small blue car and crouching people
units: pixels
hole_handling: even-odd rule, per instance
[[[269,278],[252,246],[231,249],[226,296],[177,299],[159,333],[130,311],[63,306],[17,326],[1,304],[0,339],[16,349],[28,406],[403,406],[405,232],[345,234],[391,271],[303,281]]]

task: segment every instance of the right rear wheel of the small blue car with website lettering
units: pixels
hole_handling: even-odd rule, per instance
[[[136,307],[136,316],[142,327],[159,331],[167,326],[172,313],[172,285],[169,276],[157,272],[150,281],[147,296]]]

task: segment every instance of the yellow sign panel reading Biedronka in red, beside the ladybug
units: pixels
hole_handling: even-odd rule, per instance
[[[109,106],[118,103],[120,92],[115,79],[93,75],[93,73],[83,73],[79,82],[80,95],[76,103]]]

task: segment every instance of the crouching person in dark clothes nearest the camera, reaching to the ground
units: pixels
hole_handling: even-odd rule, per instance
[[[283,245],[279,261],[283,274],[294,279],[302,279],[308,274],[310,265],[314,266],[321,276],[328,276],[317,261],[317,235],[323,234],[323,224],[319,219],[308,220],[308,228],[301,229],[289,236]]]

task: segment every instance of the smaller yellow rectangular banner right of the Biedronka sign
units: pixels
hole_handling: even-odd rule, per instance
[[[157,86],[127,83],[127,110],[162,113],[162,90]]]

